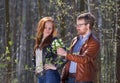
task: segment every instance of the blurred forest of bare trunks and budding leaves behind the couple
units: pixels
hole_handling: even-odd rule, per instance
[[[32,56],[38,21],[53,17],[69,46],[83,12],[95,15],[100,40],[95,83],[120,83],[120,0],[0,0],[0,83],[37,83]]]

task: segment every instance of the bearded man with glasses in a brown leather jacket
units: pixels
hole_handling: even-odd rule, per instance
[[[68,60],[62,72],[62,83],[93,83],[95,59],[100,44],[92,34],[95,17],[83,13],[77,17],[78,36],[72,40],[70,51],[57,49],[57,53]],[[67,81],[66,81],[67,80]]]

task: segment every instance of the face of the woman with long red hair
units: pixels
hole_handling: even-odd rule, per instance
[[[45,28],[43,31],[43,37],[46,38],[48,37],[53,31],[53,23],[48,21],[45,23]]]

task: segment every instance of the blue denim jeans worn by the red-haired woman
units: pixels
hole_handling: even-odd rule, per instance
[[[38,83],[60,83],[60,75],[57,70],[47,70],[43,76],[38,77]]]

